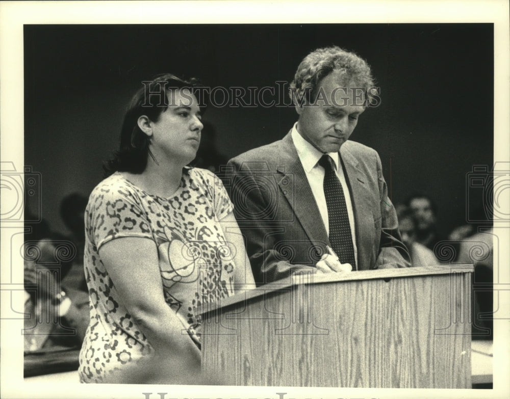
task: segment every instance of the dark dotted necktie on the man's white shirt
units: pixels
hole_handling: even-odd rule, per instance
[[[342,183],[335,172],[335,164],[329,155],[322,155],[319,165],[324,168],[324,195],[329,221],[329,242],[341,263],[350,263],[355,269],[354,246],[347,215]],[[340,167],[340,166],[339,166]]]

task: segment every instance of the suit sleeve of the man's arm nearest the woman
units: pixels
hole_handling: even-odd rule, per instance
[[[241,170],[240,164],[235,158],[228,161],[223,180],[246,240],[246,251],[257,285],[288,278],[296,269],[305,268],[315,272],[313,267],[289,263],[286,260],[289,254],[275,250],[278,237],[285,232],[285,225],[279,225],[276,221],[277,198],[270,198],[271,193],[274,193],[272,187],[268,188],[259,181],[267,176],[258,178],[246,166]],[[292,251],[289,248],[287,250]]]

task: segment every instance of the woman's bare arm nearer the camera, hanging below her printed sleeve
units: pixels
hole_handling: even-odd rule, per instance
[[[189,376],[188,383],[193,383],[200,370],[200,351],[165,302],[156,244],[147,238],[117,238],[100,247],[99,255],[119,299],[155,350],[155,357],[143,362],[143,370],[136,367],[143,371],[142,382],[182,384]],[[122,376],[124,382],[134,383],[130,378],[136,377]]]

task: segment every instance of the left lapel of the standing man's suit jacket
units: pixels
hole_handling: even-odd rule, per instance
[[[283,175],[278,185],[294,215],[312,243],[329,243],[319,207],[297,154],[290,132],[282,140],[278,173]]]

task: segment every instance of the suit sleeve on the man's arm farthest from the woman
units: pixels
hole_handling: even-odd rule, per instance
[[[376,268],[408,268],[411,266],[411,257],[402,243],[402,238],[398,231],[397,213],[390,198],[388,198],[388,187],[384,176],[382,176],[379,154],[375,152],[375,156],[381,207],[381,238]]]

